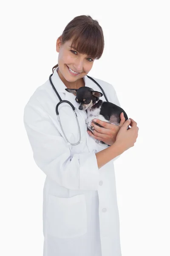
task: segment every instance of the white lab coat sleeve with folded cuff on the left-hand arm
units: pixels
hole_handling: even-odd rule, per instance
[[[98,189],[99,168],[94,152],[71,155],[70,146],[39,105],[28,102],[23,121],[35,163],[45,175],[67,189]]]

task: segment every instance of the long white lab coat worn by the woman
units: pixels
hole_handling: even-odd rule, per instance
[[[98,169],[95,153],[105,147],[88,135],[86,111],[79,110],[75,96],[65,91],[67,87],[57,69],[51,79],[59,96],[76,108],[81,143],[70,145],[62,135],[56,115],[59,99],[49,79],[37,87],[24,108],[24,125],[34,160],[46,175],[43,256],[121,256],[113,164],[119,156]],[[83,79],[85,86],[102,92],[87,76]],[[113,86],[94,79],[102,86],[108,101],[120,106]],[[104,96],[100,99],[106,101]],[[79,134],[72,108],[62,103],[58,109],[68,140],[76,143]]]

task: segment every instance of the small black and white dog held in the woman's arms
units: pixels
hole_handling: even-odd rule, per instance
[[[94,126],[91,126],[91,122],[94,122],[93,119],[95,118],[113,125],[119,125],[121,120],[120,114],[123,112],[125,120],[128,119],[127,114],[122,108],[111,102],[102,101],[99,98],[102,97],[103,94],[93,90],[90,87],[83,86],[79,89],[65,90],[69,93],[73,93],[76,96],[75,100],[77,103],[79,103],[79,110],[85,110],[87,112],[88,118],[85,119],[85,123],[87,124],[88,130],[92,132],[94,131]],[[103,127],[96,122],[94,123],[100,127]],[[94,140],[100,145],[107,145],[103,141],[96,139]]]

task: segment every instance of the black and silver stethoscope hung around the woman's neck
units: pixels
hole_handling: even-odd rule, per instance
[[[78,121],[78,118],[77,118],[77,113],[76,113],[76,111],[75,111],[74,105],[71,104],[71,102],[69,102],[68,100],[62,100],[61,97],[59,96],[59,94],[57,93],[57,90],[56,90],[56,88],[54,87],[54,84],[53,84],[52,81],[51,81],[51,76],[52,76],[52,75],[53,75],[53,74],[51,74],[51,75],[49,76],[49,80],[50,80],[50,83],[51,83],[51,85],[52,85],[52,87],[53,87],[55,93],[57,94],[57,96],[58,96],[58,98],[59,98],[59,103],[57,103],[57,106],[56,106],[56,113],[57,113],[57,118],[58,118],[60,127],[61,127],[61,129],[62,129],[62,125],[61,125],[61,122],[60,122],[60,119],[59,119],[58,106],[59,106],[59,104],[61,104],[62,102],[66,102],[66,103],[68,103],[68,104],[71,106],[71,108],[72,108],[73,111],[74,111],[74,115],[75,115],[75,117],[76,117],[77,125],[78,125],[78,128],[79,128],[79,141],[78,141],[77,143],[70,143],[70,142],[68,141],[67,137],[65,136],[65,132],[64,132],[63,129],[62,129],[62,132],[63,132],[63,134],[64,134],[65,140],[67,140],[67,142],[68,142],[69,144],[71,144],[71,145],[78,145],[78,144],[80,143],[80,140],[81,140],[81,131],[80,131],[80,127],[79,127],[79,121]],[[86,76],[87,76],[87,75],[86,75]],[[105,92],[104,92],[104,90],[102,89],[102,87],[101,87],[91,76],[87,76],[87,77],[90,78],[92,81],[94,81],[94,82],[99,86],[99,88],[102,90],[103,95],[105,96],[106,101],[108,102],[108,99],[107,99],[107,97],[106,97],[106,95],[105,95]],[[86,110],[86,113],[87,113],[87,110]]]

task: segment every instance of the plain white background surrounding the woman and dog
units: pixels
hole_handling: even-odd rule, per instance
[[[57,64],[56,40],[74,17],[102,26],[89,76],[113,84],[137,122],[115,161],[122,256],[170,256],[169,1],[7,1],[0,8],[0,255],[42,256],[42,190],[23,109]],[[81,255],[80,255],[81,256]]]

